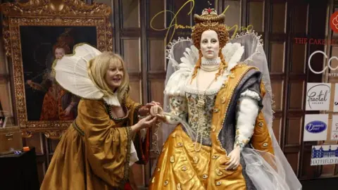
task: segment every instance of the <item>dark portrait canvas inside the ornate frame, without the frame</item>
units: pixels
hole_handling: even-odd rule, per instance
[[[76,44],[96,47],[96,27],[21,26],[20,41],[27,120],[74,120],[79,98],[57,84],[53,66]]]

